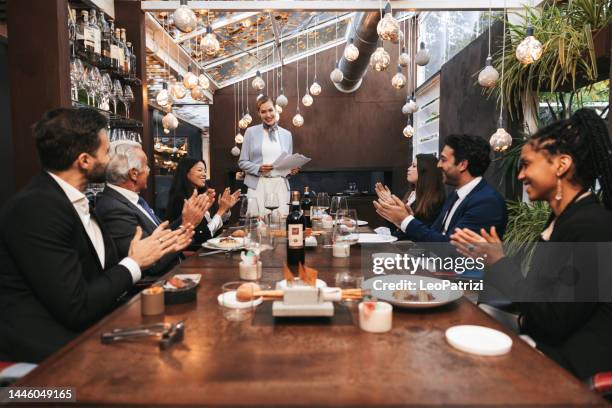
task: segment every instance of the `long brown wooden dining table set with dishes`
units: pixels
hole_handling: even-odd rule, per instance
[[[283,276],[286,249],[278,241],[262,255],[265,282]],[[334,258],[331,249],[309,248],[306,263],[333,286],[338,273],[366,271],[367,278],[364,254],[375,250],[355,245],[349,258]],[[73,387],[79,404],[97,406],[606,404],[465,297],[432,309],[395,308],[393,328],[383,334],[360,330],[356,308],[341,304],[331,319],[275,319],[264,302],[251,318],[228,321],[217,296],[239,280],[239,261],[236,253],[186,259],[170,275],[201,274],[196,301],[143,317],[137,295],[16,386]],[[152,340],[100,341],[114,328],[183,319],[183,341],[167,350]],[[505,332],[511,351],[483,357],[452,348],[445,331],[463,324]]]

